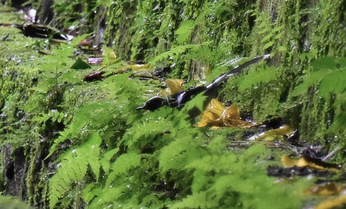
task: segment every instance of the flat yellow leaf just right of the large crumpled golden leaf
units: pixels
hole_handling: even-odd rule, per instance
[[[294,131],[291,129],[289,125],[283,125],[279,129],[273,129],[270,131],[266,131],[257,135],[252,136],[249,140],[256,141],[276,141],[283,140],[284,135],[291,135]]]

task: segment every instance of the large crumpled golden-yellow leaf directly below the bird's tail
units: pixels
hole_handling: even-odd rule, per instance
[[[240,120],[240,111],[235,105],[225,107],[221,102],[212,99],[206,110],[201,115],[198,127],[204,126],[229,126],[251,127],[252,123]]]

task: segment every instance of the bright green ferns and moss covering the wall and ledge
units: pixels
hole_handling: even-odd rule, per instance
[[[219,98],[257,122],[284,118],[303,141],[345,147],[343,1],[82,3],[55,1],[57,22],[92,32],[107,11],[104,39],[112,49],[104,47],[103,65],[109,71],[144,61],[170,66],[170,77],[192,86],[196,75],[210,82],[239,58],[271,53],[266,65],[230,79]],[[7,32],[12,41],[22,38],[13,28],[1,35]],[[181,111],[141,112],[135,108],[157,82],[129,73],[82,82],[86,70],[71,68],[82,38],[60,46],[29,38],[12,48],[1,42],[0,140],[8,148],[1,149],[1,190],[20,181],[14,194],[39,208],[302,207],[300,192],[311,181],[274,183],[265,173],[271,151],[264,145],[229,150],[229,134],[239,130],[191,125],[187,113],[203,97]],[[54,55],[31,60],[42,49]],[[17,57],[25,65],[8,61]],[[21,160],[24,173],[16,170]],[[15,180],[6,174],[8,162]]]

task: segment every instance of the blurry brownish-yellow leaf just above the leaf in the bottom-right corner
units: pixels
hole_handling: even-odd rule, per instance
[[[324,185],[312,186],[304,190],[304,194],[310,195],[332,195],[338,194],[343,190],[343,186],[337,183],[326,183]]]

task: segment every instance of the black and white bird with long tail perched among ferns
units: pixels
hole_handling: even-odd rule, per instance
[[[193,96],[195,96],[199,93],[202,93],[202,92],[204,92],[204,95],[206,95],[208,97],[212,97],[213,96],[212,94],[215,91],[217,91],[217,89],[218,89],[217,87],[219,86],[219,84],[221,84],[222,82],[227,80],[229,77],[234,76],[235,74],[239,73],[244,68],[246,68],[250,65],[253,65],[253,64],[255,64],[255,63],[257,63],[263,59],[266,59],[269,56],[270,56],[270,54],[260,56],[260,57],[255,57],[254,59],[247,61],[246,63],[229,70],[227,73],[222,74],[221,76],[219,76],[218,78],[213,80],[213,82],[211,82],[207,86],[204,85],[204,86],[198,86],[198,87],[190,88],[188,90],[178,92],[178,93],[176,93],[176,94],[174,94],[168,98],[162,98],[162,97],[155,96],[155,97],[149,99],[143,106],[137,107],[136,109],[137,110],[144,109],[144,110],[154,111],[154,110],[157,110],[158,108],[163,107],[163,106],[180,108],[186,102],[190,101]]]

